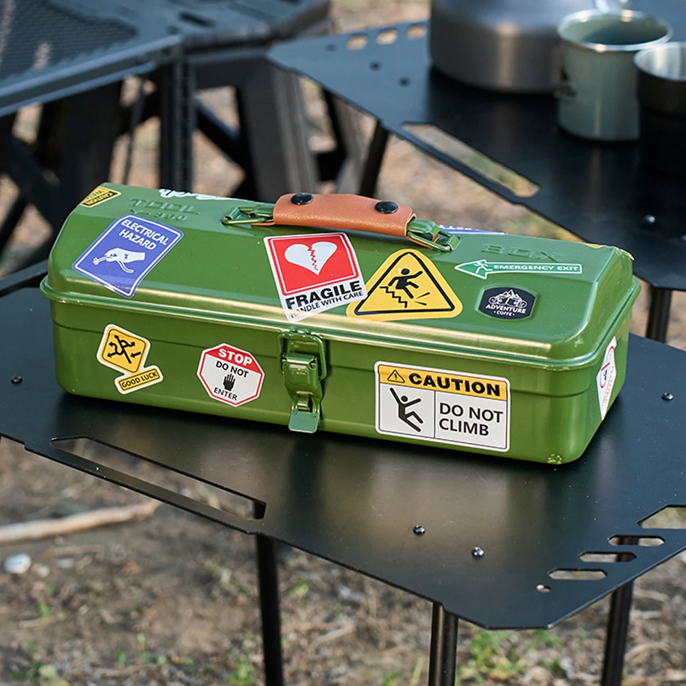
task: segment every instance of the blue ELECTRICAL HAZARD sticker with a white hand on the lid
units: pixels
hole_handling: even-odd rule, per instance
[[[183,233],[136,215],[119,217],[88,246],[72,267],[115,293],[132,298],[143,277]]]

